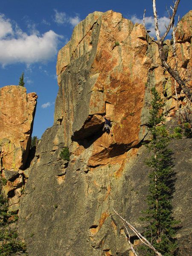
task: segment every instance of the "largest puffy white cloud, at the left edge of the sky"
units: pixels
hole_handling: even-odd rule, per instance
[[[13,27],[9,19],[0,16],[0,64],[32,64],[47,61],[57,54],[60,35],[52,30],[40,35],[35,27],[30,29],[32,34],[27,35],[17,24]]]

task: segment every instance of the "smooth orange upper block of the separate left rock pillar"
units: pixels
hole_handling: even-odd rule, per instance
[[[29,152],[38,96],[26,88],[10,85],[0,88],[0,158],[2,168],[23,168]]]

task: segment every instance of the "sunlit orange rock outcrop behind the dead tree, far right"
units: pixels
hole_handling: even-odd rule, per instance
[[[174,69],[176,61],[173,55],[173,47],[170,44],[170,41],[166,40],[167,46],[169,46],[169,52],[167,56],[167,62]],[[192,11],[188,12],[179,22],[177,32],[175,34],[175,47],[177,55],[177,66],[179,74],[182,78],[188,79],[192,67]],[[187,70],[187,72],[186,72]],[[167,108],[174,113],[182,105],[185,105],[186,100],[182,102],[183,93],[176,84],[176,91],[178,94],[179,104],[176,101],[176,92],[175,92],[175,81],[171,77],[167,77],[167,82],[165,85],[165,90],[167,92],[167,98],[169,99],[166,102]],[[188,79],[187,82],[189,87],[192,87],[192,80]],[[186,85],[187,85],[186,84]],[[174,95],[175,96],[174,96]]]

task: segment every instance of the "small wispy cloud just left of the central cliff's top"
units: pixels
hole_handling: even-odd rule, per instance
[[[79,15],[76,15],[75,17],[70,17],[65,12],[58,12],[56,9],[54,9],[54,11],[54,21],[59,25],[70,23],[72,26],[76,26],[81,21]]]

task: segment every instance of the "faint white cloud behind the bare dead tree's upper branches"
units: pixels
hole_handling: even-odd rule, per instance
[[[131,21],[133,23],[142,23],[143,19],[137,18],[136,15],[131,16]],[[158,24],[159,24],[159,30],[161,32],[161,35],[164,34],[166,31],[166,26],[169,25],[170,19],[168,17],[158,17]],[[166,25],[166,26],[165,26]],[[150,35],[156,36],[155,30],[154,30],[154,17],[145,17],[145,27],[147,30],[150,30]]]

